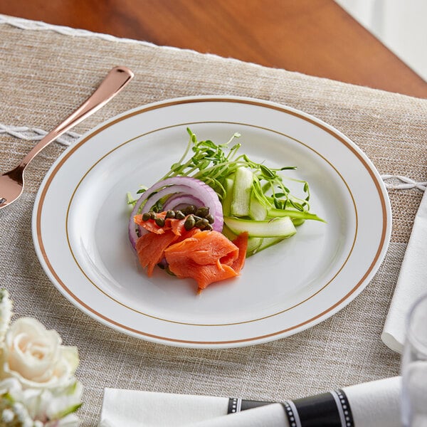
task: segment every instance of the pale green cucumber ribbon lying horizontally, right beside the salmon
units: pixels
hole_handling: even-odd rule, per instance
[[[247,231],[249,237],[285,238],[293,236],[297,232],[289,216],[264,221],[227,216],[224,218],[224,222],[233,233],[240,234]]]

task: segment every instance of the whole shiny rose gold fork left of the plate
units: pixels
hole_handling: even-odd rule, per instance
[[[8,206],[21,196],[23,191],[23,171],[28,163],[41,152],[48,144],[53,142],[71,127],[77,125],[86,117],[99,110],[108,101],[115,97],[125,85],[132,80],[134,73],[127,67],[115,67],[110,70],[95,92],[68,116],[60,125],[41,139],[24,157],[21,163],[9,172],[0,176],[0,209]]]

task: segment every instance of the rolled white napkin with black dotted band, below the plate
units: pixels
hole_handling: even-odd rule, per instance
[[[105,389],[100,427],[399,427],[401,377],[283,403]]]

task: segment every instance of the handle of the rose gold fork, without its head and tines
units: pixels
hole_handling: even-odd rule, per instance
[[[75,112],[68,116],[60,125],[54,130],[51,130],[43,139],[41,139],[30,152],[24,157],[19,164],[18,168],[24,169],[46,145],[53,142],[64,132],[67,132],[71,127],[77,125],[81,121],[85,120],[86,117],[99,110],[100,107],[105,105],[109,100],[112,99],[117,93],[125,88],[125,85],[132,80],[134,73],[124,66],[115,67],[110,70],[101,84],[95,90],[95,92],[78,107]]]

